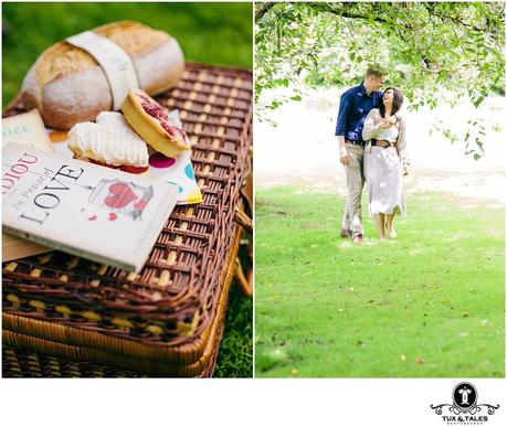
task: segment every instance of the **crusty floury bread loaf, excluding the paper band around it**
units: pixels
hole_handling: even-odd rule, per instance
[[[133,21],[92,30],[119,45],[133,60],[140,88],[156,95],[176,85],[184,70],[178,42],[162,31]],[[27,108],[38,108],[44,124],[70,129],[113,108],[103,68],[86,51],[61,42],[44,51],[24,77]]]

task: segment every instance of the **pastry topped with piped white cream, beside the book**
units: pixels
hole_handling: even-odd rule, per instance
[[[103,111],[96,122],[75,125],[68,132],[74,157],[130,173],[149,169],[148,147],[120,113]]]

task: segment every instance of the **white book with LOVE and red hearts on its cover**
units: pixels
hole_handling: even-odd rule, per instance
[[[2,151],[3,232],[141,269],[176,205],[176,185],[18,143]]]

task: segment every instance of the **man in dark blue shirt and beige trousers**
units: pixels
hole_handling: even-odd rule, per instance
[[[388,73],[379,65],[369,65],[365,82],[348,89],[340,98],[335,135],[338,137],[340,162],[347,178],[347,203],[345,205],[341,236],[355,243],[363,242],[361,218],[361,193],[365,185],[362,171],[365,145],[362,126],[368,113],[382,102],[382,88]],[[390,126],[390,125],[385,125]]]

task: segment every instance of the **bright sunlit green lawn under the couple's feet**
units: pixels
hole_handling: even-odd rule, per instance
[[[503,209],[410,195],[398,241],[365,218],[357,246],[336,195],[256,198],[256,376],[505,375]]]

